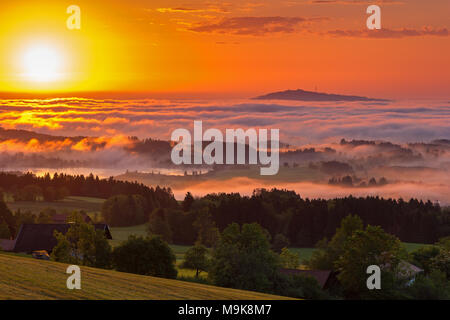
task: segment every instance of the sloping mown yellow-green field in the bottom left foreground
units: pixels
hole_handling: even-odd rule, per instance
[[[81,267],[81,290],[66,287],[66,264],[0,253],[5,299],[286,299],[257,292]]]

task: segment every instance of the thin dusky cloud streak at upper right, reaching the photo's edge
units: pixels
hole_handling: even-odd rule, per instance
[[[447,37],[449,35],[447,28],[431,28],[423,27],[422,29],[388,29],[382,28],[380,30],[331,30],[326,32],[327,35],[335,37],[348,38],[372,38],[372,39],[399,39],[406,37],[424,37],[424,36],[438,36]]]

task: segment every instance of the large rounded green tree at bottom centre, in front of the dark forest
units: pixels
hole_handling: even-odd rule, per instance
[[[210,280],[218,286],[267,291],[272,287],[279,261],[270,250],[263,228],[256,224],[229,225],[213,250]]]

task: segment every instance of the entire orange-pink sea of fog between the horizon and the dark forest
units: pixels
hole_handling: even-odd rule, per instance
[[[182,175],[183,170],[162,168],[151,162],[136,161],[136,155],[124,151],[128,137],[169,140],[178,128],[193,130],[195,120],[204,130],[217,128],[280,129],[280,140],[297,147],[325,147],[341,139],[364,139],[429,143],[450,139],[450,101],[401,100],[390,102],[293,102],[256,100],[114,100],[64,98],[51,100],[0,100],[0,126],[3,129],[30,130],[67,137],[63,142],[0,140],[0,154],[22,153],[62,159],[105,159],[113,165],[103,167],[47,168],[26,167],[37,175],[45,172],[93,173],[100,177],[129,171]],[[71,137],[96,137],[102,147],[89,141],[73,142]],[[196,195],[209,192],[251,194],[259,187],[293,189],[305,197],[381,195],[419,197],[450,203],[448,155],[430,163],[441,170],[432,180],[396,181],[378,188],[343,188],[326,183],[299,181],[283,183],[232,177],[226,181],[208,181],[192,188],[174,189],[177,198],[188,190]],[[8,164],[3,170],[10,170]],[[17,168],[16,168],[17,169]]]

